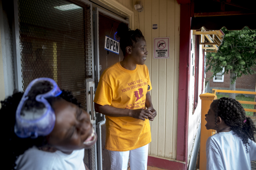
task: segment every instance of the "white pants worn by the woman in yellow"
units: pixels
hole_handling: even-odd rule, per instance
[[[127,170],[130,156],[131,170],[147,170],[148,144],[130,151],[109,151],[111,170]]]

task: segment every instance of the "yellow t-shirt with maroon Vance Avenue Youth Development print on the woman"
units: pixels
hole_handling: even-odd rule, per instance
[[[135,70],[124,69],[119,62],[105,69],[99,80],[94,102],[121,109],[145,109],[151,81],[146,65]],[[111,151],[129,151],[151,142],[149,120],[132,117],[106,118],[105,148]]]

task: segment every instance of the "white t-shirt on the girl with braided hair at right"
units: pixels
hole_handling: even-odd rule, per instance
[[[220,132],[207,139],[207,170],[251,170],[256,160],[256,143],[248,139],[248,153],[240,137],[231,130]]]

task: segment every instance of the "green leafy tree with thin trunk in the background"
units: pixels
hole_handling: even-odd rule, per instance
[[[223,74],[230,72],[230,90],[236,90],[237,77],[255,73],[256,30],[245,27],[238,31],[222,28],[222,31],[225,36],[218,52],[206,55],[206,71],[211,70],[213,76],[216,76],[225,67]],[[235,98],[235,94],[230,94],[230,98]]]

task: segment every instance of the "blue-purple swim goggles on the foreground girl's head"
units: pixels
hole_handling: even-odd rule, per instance
[[[26,101],[29,99],[28,93],[30,92],[31,87],[40,81],[47,81],[52,87],[48,92],[38,94],[35,98],[36,101],[43,103],[45,107],[42,109],[36,109],[36,107],[31,107],[29,110],[23,109]],[[57,97],[61,93],[62,91],[57,86],[56,82],[50,78],[39,78],[30,82],[16,110],[15,134],[22,138],[37,138],[38,136],[46,136],[50,134],[55,125],[56,117],[51,105],[45,98]]]

